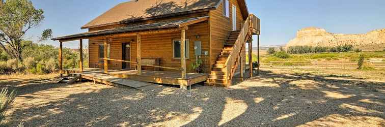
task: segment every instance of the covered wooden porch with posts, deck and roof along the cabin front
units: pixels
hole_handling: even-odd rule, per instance
[[[186,40],[186,30],[189,29],[189,25],[207,21],[207,20],[208,20],[208,16],[195,17],[195,18],[188,18],[188,19],[181,19],[181,20],[174,20],[174,21],[156,22],[156,23],[150,23],[150,24],[131,25],[131,26],[125,26],[125,27],[119,27],[119,28],[89,31],[86,33],[53,38],[52,40],[57,40],[60,42],[60,48],[59,48],[60,76],[63,76],[63,74],[69,74],[69,73],[84,74],[84,73],[93,72],[93,73],[103,73],[108,75],[114,75],[117,77],[128,78],[132,80],[161,83],[161,84],[180,85],[183,87],[206,81],[208,74],[187,73],[188,69],[186,67],[185,54],[188,52],[186,52],[185,50],[186,49],[185,40]],[[175,35],[180,35],[179,37],[180,58],[173,59],[174,61],[180,60],[180,66],[170,67],[168,65],[154,65],[154,64],[149,64],[148,62],[143,62],[142,53],[148,52],[146,50],[142,50],[143,37],[161,35],[161,34],[167,34],[167,33],[176,33]],[[82,66],[82,62],[83,62],[82,40],[92,39],[92,38],[102,38],[103,40],[102,42],[102,45],[104,47],[102,49],[103,57],[97,58],[98,61],[101,61],[99,62],[101,63],[100,68],[84,68]],[[109,52],[111,52],[111,50],[121,50],[121,49],[116,49],[116,48],[114,49],[114,47],[109,48],[109,44],[112,43],[113,39],[121,39],[121,38],[135,38],[131,40],[131,43],[135,43],[134,50],[136,53],[134,55],[136,58],[122,59],[122,58],[110,57],[110,56],[116,55],[116,54],[108,54]],[[68,41],[74,41],[74,40],[79,40],[79,47],[80,47],[79,48],[79,52],[80,52],[79,68],[63,70],[63,52],[62,52],[63,43]],[[127,64],[131,68],[109,69],[112,66],[116,66],[115,63],[118,63],[118,62],[122,64],[123,68],[124,68],[123,65],[127,65]],[[114,63],[114,65],[112,63]],[[89,63],[89,65],[93,65],[93,64],[94,63]],[[158,68],[159,71],[143,70],[142,67]],[[163,70],[167,70],[167,71],[163,71]]]

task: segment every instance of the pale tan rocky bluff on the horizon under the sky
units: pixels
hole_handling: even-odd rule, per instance
[[[335,34],[323,28],[307,27],[297,31],[297,35],[286,46],[339,46],[353,45],[363,50],[385,49],[385,29],[372,30],[366,34]]]

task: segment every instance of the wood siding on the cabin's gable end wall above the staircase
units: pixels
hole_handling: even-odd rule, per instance
[[[224,43],[232,31],[232,6],[237,8],[237,30],[241,29],[241,24],[244,22],[242,13],[237,0],[229,0],[229,17],[224,16],[224,5],[221,3],[217,9],[209,12],[210,16],[210,65],[215,64],[215,60],[224,48]],[[210,67],[211,67],[210,66]]]

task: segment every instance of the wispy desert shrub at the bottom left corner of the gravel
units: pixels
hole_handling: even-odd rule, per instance
[[[14,90],[9,92],[7,88],[2,89],[2,91],[0,92],[0,122],[4,120],[6,110],[8,106],[13,102],[14,99],[15,99]]]

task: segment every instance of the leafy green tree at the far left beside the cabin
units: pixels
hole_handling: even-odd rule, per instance
[[[35,9],[29,0],[7,0],[0,5],[0,47],[11,57],[22,61],[24,35],[44,20],[43,10]],[[40,40],[47,40],[51,29],[44,30]]]

